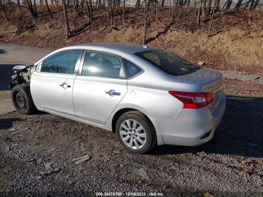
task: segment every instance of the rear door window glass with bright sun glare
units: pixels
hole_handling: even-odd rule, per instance
[[[120,58],[99,52],[87,51],[82,75],[124,78]]]

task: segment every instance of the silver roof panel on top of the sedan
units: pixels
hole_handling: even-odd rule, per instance
[[[87,43],[81,45],[73,45],[65,47],[64,49],[85,49],[91,48],[92,46],[100,46],[100,47],[107,47],[107,48],[114,48],[119,50],[124,50],[130,53],[138,53],[141,51],[153,50],[158,49],[156,47],[147,46],[147,45],[138,45],[138,44],[129,44],[129,43],[119,43],[119,42],[97,42],[97,43]]]

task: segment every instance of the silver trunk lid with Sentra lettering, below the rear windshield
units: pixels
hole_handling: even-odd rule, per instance
[[[221,72],[209,68],[200,68],[194,73],[176,77],[184,81],[197,83],[204,92],[211,92],[214,100],[208,105],[208,108],[212,114],[214,113],[220,103],[222,94],[223,79]]]

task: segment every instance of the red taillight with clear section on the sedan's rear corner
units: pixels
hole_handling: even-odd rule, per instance
[[[184,105],[182,108],[197,109],[207,106],[213,101],[213,95],[210,92],[182,92],[168,91],[169,94],[176,97]]]

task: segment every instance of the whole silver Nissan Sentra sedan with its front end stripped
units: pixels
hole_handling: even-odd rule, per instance
[[[14,67],[12,101],[115,131],[132,153],[157,143],[196,146],[222,122],[222,73],[151,46],[93,43],[58,49]]]

